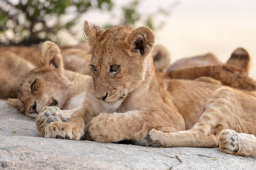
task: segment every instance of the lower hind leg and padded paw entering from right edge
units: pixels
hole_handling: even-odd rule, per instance
[[[256,155],[255,135],[238,133],[235,130],[222,130],[218,139],[220,151],[228,154],[239,154],[244,156]]]

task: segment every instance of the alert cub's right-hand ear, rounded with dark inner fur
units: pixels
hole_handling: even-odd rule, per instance
[[[154,34],[147,27],[139,27],[128,36],[127,45],[132,52],[142,56],[149,55],[154,45]]]

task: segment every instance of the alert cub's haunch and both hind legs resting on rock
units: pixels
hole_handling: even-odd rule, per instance
[[[227,87],[220,88],[215,91],[213,98],[208,100],[204,113],[191,130],[160,132],[153,129],[149,132],[150,141],[160,142],[165,147],[219,145],[223,152],[254,156],[256,154],[255,99],[255,94],[247,94]]]

